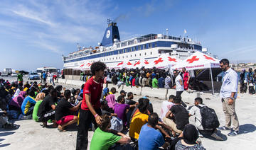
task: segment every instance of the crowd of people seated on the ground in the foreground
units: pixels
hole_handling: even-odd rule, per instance
[[[36,82],[21,85],[1,80],[0,90],[1,117],[33,118],[42,122],[43,127],[56,127],[60,132],[78,122],[83,85],[81,89],[66,90],[62,86],[54,88]],[[196,98],[195,105],[187,110],[181,105],[180,96],[171,95],[162,103],[160,117],[154,113],[149,98],[134,100],[132,92],[117,93],[115,88],[105,88],[100,103],[102,123],[92,129],[95,132],[90,149],[204,149],[198,142],[201,135],[223,140],[216,134],[216,128],[204,129],[201,124],[201,98]],[[190,116],[198,119],[195,125],[190,124]],[[3,127],[17,128],[2,122],[1,117]],[[52,125],[48,126],[48,122]]]

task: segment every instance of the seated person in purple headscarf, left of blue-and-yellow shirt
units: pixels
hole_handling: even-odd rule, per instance
[[[11,99],[11,102],[9,103],[9,110],[18,110],[21,111],[21,105],[26,97],[26,91],[21,91],[18,96]]]

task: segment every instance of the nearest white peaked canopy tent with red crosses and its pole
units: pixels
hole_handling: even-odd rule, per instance
[[[210,69],[210,78],[213,88],[213,73],[212,68],[220,68],[220,61],[213,57],[210,57],[208,54],[204,54],[203,52],[195,52],[190,57],[186,58],[182,62],[176,64],[171,69],[182,69],[183,67],[186,70],[196,70],[196,69]],[[214,94],[214,88],[213,88]]]

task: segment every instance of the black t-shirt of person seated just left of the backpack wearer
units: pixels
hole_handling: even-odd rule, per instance
[[[174,113],[177,129],[183,130],[185,125],[189,123],[186,108],[184,108],[182,105],[173,105],[170,110],[171,113]]]

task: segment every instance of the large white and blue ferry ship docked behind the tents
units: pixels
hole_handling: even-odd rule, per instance
[[[166,29],[167,30],[167,29]],[[177,59],[185,59],[196,51],[202,51],[200,42],[188,37],[174,37],[168,34],[148,34],[120,40],[117,23],[108,20],[102,42],[97,47],[80,47],[78,51],[63,56],[64,69],[79,68],[92,62],[105,62],[107,67],[127,60],[136,63],[139,59],[155,59],[160,54],[169,54]]]

